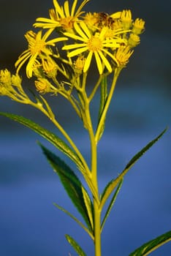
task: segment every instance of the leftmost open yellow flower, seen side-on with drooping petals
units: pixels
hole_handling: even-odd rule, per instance
[[[35,66],[39,65],[37,60],[41,54],[44,56],[49,56],[52,54],[48,46],[55,46],[55,42],[64,41],[66,37],[58,37],[55,39],[50,39],[46,42],[47,37],[51,34],[52,29],[48,30],[43,36],[42,31],[39,31],[37,34],[34,31],[28,31],[25,34],[25,37],[28,41],[28,50],[25,50],[18,58],[18,61],[15,62],[15,67],[17,67],[17,72],[19,72],[20,67],[29,59],[26,66],[26,75],[28,78],[31,78],[32,72]]]

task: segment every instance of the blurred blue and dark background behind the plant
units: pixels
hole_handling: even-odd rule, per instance
[[[46,17],[51,7],[51,0],[1,0],[1,69],[14,70],[15,60],[26,49],[23,34],[37,17]],[[171,2],[92,0],[86,6],[92,12],[113,13],[123,9],[131,9],[133,18],[143,18],[146,29],[118,80],[104,137],[99,143],[101,191],[137,151],[171,124]],[[52,100],[59,120],[88,159],[88,138],[80,121],[63,99]],[[37,110],[7,98],[1,97],[0,110],[18,113],[54,129]],[[75,255],[65,233],[83,245],[88,256],[94,255],[86,233],[53,206],[56,202],[79,217],[36,140],[54,150],[29,129],[0,118],[0,255]],[[170,151],[169,129],[127,174],[102,234],[104,256],[127,256],[141,244],[170,230]],[[151,255],[171,255],[171,243]]]

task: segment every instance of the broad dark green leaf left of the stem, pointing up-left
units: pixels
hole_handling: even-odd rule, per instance
[[[88,211],[83,198],[83,185],[81,184],[80,180],[64,161],[45,148],[45,146],[42,146],[40,143],[39,145],[47,157],[48,162],[50,162],[50,165],[61,179],[61,183],[63,184],[64,189],[66,189],[72,203],[82,215],[83,219],[88,225],[89,230],[91,230],[91,222],[89,220]]]

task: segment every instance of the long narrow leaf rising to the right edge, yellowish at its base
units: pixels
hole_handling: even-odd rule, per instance
[[[107,201],[107,198],[111,195],[111,193],[113,192],[115,187],[118,185],[118,183],[121,181],[123,176],[125,176],[126,173],[128,173],[128,171],[134,165],[134,163],[137,162],[137,160],[140,159],[140,157],[142,157],[142,155],[145,154],[145,152],[148,151],[148,149],[151,148],[151,146],[153,146],[153,144],[156,143],[159,140],[159,138],[161,138],[161,136],[164,135],[164,132],[166,132],[166,131],[167,131],[167,129],[164,129],[164,131],[161,132],[161,134],[159,136],[157,136],[154,140],[151,140],[151,142],[148,143],[144,148],[142,148],[141,151],[139,151],[137,154],[135,154],[134,157],[132,157],[132,159],[126,165],[126,167],[124,168],[122,173],[117,178],[114,178],[112,181],[110,181],[107,184],[107,187],[105,187],[104,192],[102,193],[102,199],[101,199],[101,204],[100,204],[101,208],[103,208],[104,203]]]

